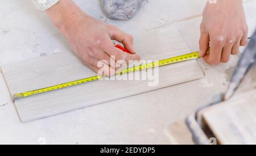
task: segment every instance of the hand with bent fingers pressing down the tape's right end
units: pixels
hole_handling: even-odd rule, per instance
[[[208,1],[200,29],[199,56],[212,65],[228,62],[230,54],[236,55],[239,47],[247,44],[248,28],[242,0]]]

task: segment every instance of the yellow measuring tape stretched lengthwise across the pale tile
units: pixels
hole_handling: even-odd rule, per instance
[[[156,68],[156,67],[159,67],[159,66],[175,64],[177,62],[194,60],[196,58],[199,58],[199,52],[188,53],[188,54],[184,54],[184,55],[181,55],[181,56],[176,56],[176,57],[171,57],[171,58],[167,58],[167,59],[164,59],[164,60],[151,62],[151,63],[148,63],[148,64],[134,66],[134,67],[131,67],[131,68],[121,70],[117,74],[126,74],[126,73],[135,72],[135,71],[141,71],[141,70],[145,70],[145,69]],[[22,93],[19,93],[19,94],[14,94],[13,99],[15,100],[15,99],[20,99],[20,98],[25,98],[27,96],[31,96],[31,95],[35,95],[35,94],[41,94],[43,92],[48,92],[48,91],[53,91],[53,90],[59,90],[61,88],[76,86],[76,85],[80,85],[80,84],[83,84],[83,83],[96,81],[96,80],[101,79],[101,78],[103,78],[103,76],[97,76],[96,75],[94,77],[89,77],[89,78],[79,79],[79,80],[72,81],[72,82],[62,83],[60,85],[46,87],[46,88],[42,88],[42,89],[39,89],[39,90],[22,92]]]

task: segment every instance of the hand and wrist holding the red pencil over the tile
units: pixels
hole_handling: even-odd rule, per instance
[[[61,0],[56,5],[65,2],[69,3],[69,9],[72,9],[72,6],[75,5],[75,3],[69,0]],[[98,71],[105,71],[104,73],[98,74],[110,76],[114,75],[117,67],[121,66],[116,65],[118,64],[117,61],[124,60],[128,62],[129,60],[140,59],[140,57],[135,54],[133,37],[131,35],[121,31],[117,27],[110,26],[109,24],[92,18],[82,12],[77,6],[73,7],[75,7],[73,8],[75,11],[67,17],[64,17],[64,22],[61,22],[61,24],[57,22],[56,26],[66,37],[73,51],[86,65],[89,66],[89,68],[96,73],[98,73]],[[65,7],[62,6],[61,8],[64,8],[65,10]],[[50,13],[50,15],[52,14]],[[52,19],[53,22],[59,20],[54,20],[55,18]],[[121,49],[115,48],[112,40],[117,40],[123,43],[125,48],[129,50],[131,54],[127,54]],[[98,64],[99,62],[100,64]],[[112,62],[114,62],[114,64]],[[108,69],[101,70],[102,67],[98,65],[102,64],[105,64],[103,68]]]

